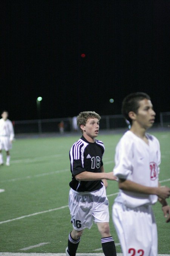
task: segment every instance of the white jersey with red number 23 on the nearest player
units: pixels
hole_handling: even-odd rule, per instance
[[[158,187],[159,165],[161,152],[159,141],[153,135],[146,133],[148,144],[141,138],[127,131],[116,147],[114,175],[148,187]],[[156,195],[146,195],[125,190],[119,190],[115,202],[127,207],[138,207],[145,204],[155,204]]]

